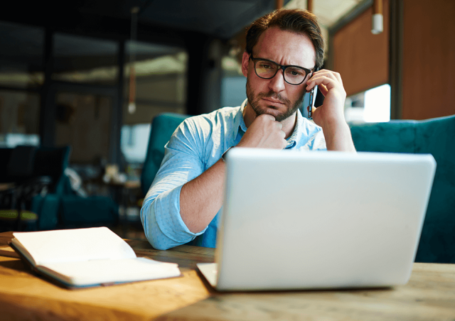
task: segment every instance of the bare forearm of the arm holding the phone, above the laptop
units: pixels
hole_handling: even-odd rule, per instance
[[[333,121],[322,127],[328,151],[355,152],[353,138],[346,121]]]

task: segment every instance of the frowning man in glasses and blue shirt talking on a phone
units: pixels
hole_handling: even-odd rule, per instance
[[[193,241],[215,247],[229,148],[355,151],[340,75],[316,71],[323,38],[308,11],[279,10],[252,23],[242,56],[247,101],[191,117],[176,129],[146,195],[141,221],[150,243],[168,249]],[[298,107],[314,86],[325,96],[313,124]],[[264,173],[267,175],[267,173]]]

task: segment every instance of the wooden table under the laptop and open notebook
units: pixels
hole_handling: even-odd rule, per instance
[[[0,246],[11,237],[1,233]],[[183,277],[66,290],[0,256],[0,320],[455,320],[451,264],[414,263],[410,282],[395,288],[216,293],[196,271],[213,249],[128,243],[138,256],[178,263]]]

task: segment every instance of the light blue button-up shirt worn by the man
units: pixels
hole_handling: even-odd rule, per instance
[[[150,244],[155,249],[169,249],[191,242],[215,247],[221,210],[202,232],[191,232],[180,215],[182,186],[215,164],[242,138],[247,126],[243,119],[246,100],[240,107],[225,107],[193,116],[178,126],[164,146],[164,158],[141,208],[141,221]],[[294,132],[287,139],[287,149],[326,150],[322,129],[297,111]]]

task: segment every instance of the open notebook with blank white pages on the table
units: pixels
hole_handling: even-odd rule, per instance
[[[10,245],[33,271],[67,288],[181,276],[176,263],[138,258],[107,227],[13,233]]]

